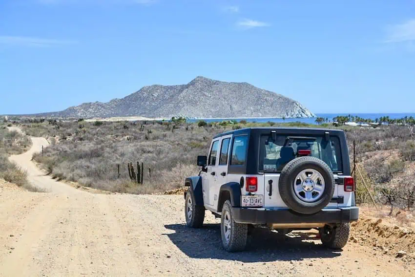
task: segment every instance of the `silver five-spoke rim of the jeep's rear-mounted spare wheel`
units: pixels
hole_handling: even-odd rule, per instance
[[[323,175],[313,169],[302,170],[294,179],[295,195],[304,202],[315,202],[319,200],[326,188]]]

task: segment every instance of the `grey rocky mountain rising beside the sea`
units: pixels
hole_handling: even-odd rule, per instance
[[[84,103],[53,117],[143,116],[150,118],[314,117],[297,101],[248,83],[228,83],[196,77],[187,85],[145,86],[123,99]]]

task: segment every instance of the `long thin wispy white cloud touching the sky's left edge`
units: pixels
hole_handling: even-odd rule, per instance
[[[63,41],[54,39],[42,39],[34,37],[19,37],[19,36],[0,36],[0,44],[33,46],[33,47],[48,47],[64,44],[75,44],[74,41]]]

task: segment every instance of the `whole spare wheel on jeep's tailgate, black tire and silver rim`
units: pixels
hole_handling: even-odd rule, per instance
[[[284,203],[297,213],[317,213],[330,203],[334,193],[330,167],[315,157],[290,161],[281,171],[278,189]]]

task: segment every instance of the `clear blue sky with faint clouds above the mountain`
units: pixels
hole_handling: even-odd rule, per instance
[[[0,114],[198,75],[315,113],[415,112],[415,0],[0,0]]]

